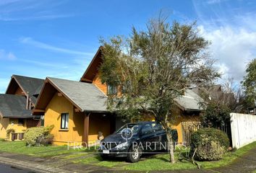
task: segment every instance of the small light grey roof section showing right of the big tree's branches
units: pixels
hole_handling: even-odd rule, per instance
[[[204,102],[204,100],[192,89],[187,89],[184,95],[174,99],[174,101],[182,110],[203,110],[200,102]]]

